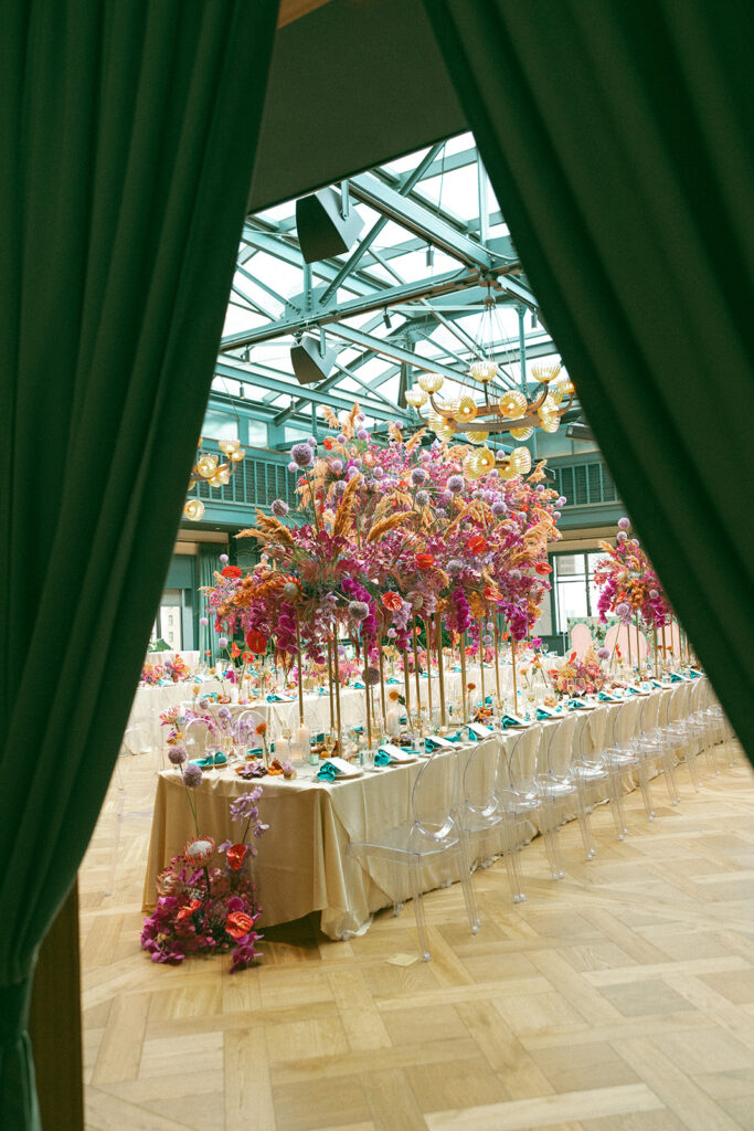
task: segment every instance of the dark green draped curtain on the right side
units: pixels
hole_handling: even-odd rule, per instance
[[[754,760],[751,0],[425,0],[621,495]]]

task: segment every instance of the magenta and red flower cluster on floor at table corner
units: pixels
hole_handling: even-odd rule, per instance
[[[185,750],[174,746],[170,759],[181,772],[193,814],[193,837],[179,856],[171,860],[157,878],[157,906],[145,918],[141,947],[153,962],[182,962],[191,953],[232,951],[231,973],[244,969],[261,953],[255,944],[262,938],[254,930],[261,915],[248,864],[257,855],[253,839],[269,826],[259,818],[257,786],[231,804],[231,817],[242,826],[237,843],[227,840],[216,848],[209,836],[199,832],[192,793],[201,784],[202,771],[187,763]],[[220,854],[223,866],[213,865]]]

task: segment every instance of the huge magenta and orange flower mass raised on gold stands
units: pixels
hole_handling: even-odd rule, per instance
[[[345,420],[326,415],[335,434],[321,452],[313,438],[291,451],[301,523],[283,521],[280,499],[258,511],[239,537],[258,539],[260,564],[226,566],[205,590],[223,640],[242,633],[291,668],[303,651],[326,663],[328,641],[346,636],[367,670],[385,646],[411,664],[417,625],[433,653],[440,622],[491,657],[502,620],[522,640],[549,589],[565,502],[541,465],[523,478],[485,448],[479,474],[478,448],[424,447],[424,430],[405,441],[395,424],[380,444],[357,405]]]

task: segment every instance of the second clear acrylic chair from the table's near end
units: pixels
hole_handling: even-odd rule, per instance
[[[493,844],[492,855],[502,855],[513,903],[525,899],[521,890],[517,828],[518,822],[504,804],[504,783],[508,779],[508,756],[502,737],[496,734],[473,748],[463,770],[459,821],[469,845],[474,865],[474,844]],[[491,854],[478,857],[480,866],[492,863]]]

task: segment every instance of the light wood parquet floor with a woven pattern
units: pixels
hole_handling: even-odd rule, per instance
[[[754,787],[720,765],[700,794],[682,768],[675,810],[658,784],[653,824],[632,794],[622,844],[603,806],[590,863],[565,827],[558,883],[535,841],[521,905],[502,863],[478,871],[476,938],[458,884],[432,892],[426,965],[409,904],[350,942],[276,927],[233,976],[227,958],[153,966],[148,817],[127,817],[105,896],[109,803],[80,875],[87,1128],[754,1129]],[[133,810],[150,767],[123,770]]]

